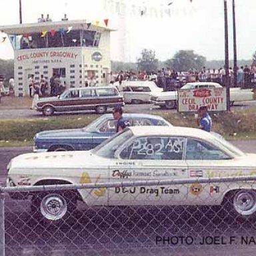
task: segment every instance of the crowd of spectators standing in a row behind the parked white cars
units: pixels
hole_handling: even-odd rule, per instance
[[[189,69],[189,71],[177,72],[172,69],[161,69],[158,71],[139,71],[134,73],[131,71],[120,71],[109,74],[110,83],[119,81],[155,81],[157,86],[164,88],[166,91],[173,91],[189,82],[215,82],[225,86],[225,68],[206,69],[203,67],[201,71]],[[229,83],[234,87],[234,70],[229,68]],[[237,67],[237,87],[253,88],[256,85],[256,66]]]

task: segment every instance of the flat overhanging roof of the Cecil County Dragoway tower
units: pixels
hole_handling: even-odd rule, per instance
[[[87,29],[87,23],[89,21],[85,19],[73,20],[73,21],[46,21],[38,23],[27,23],[27,24],[15,24],[15,25],[6,25],[0,26],[0,31],[7,33],[9,35],[21,35],[25,33],[41,33],[42,31],[51,31],[55,29],[67,29],[72,27],[72,29]],[[115,31],[109,27],[96,26],[91,24],[90,30],[95,31]]]

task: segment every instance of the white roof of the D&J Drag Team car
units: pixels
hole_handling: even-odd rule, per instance
[[[129,127],[135,136],[179,136],[179,137],[199,137],[201,139],[211,139],[213,135],[207,131],[203,131],[197,128],[190,127],[168,127],[168,126],[145,126],[141,127]]]

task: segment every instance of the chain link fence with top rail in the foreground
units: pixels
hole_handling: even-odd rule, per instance
[[[255,180],[2,187],[0,255],[255,255]]]

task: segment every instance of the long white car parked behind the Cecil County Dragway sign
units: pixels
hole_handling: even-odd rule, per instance
[[[219,83],[213,82],[196,82],[186,83],[181,89],[200,89],[200,88],[220,88]],[[160,93],[152,93],[151,102],[165,109],[175,109],[177,107],[178,93],[177,91],[163,91]],[[253,89],[230,88],[230,103],[233,105],[235,101],[253,101]]]

